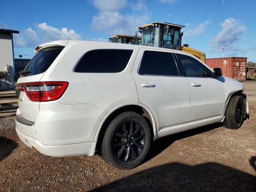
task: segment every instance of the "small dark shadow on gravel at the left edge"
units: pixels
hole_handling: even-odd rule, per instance
[[[10,155],[16,147],[16,142],[6,137],[0,137],[0,161]]]

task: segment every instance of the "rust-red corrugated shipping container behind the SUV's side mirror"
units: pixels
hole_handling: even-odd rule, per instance
[[[246,57],[226,57],[206,59],[210,68],[221,68],[222,76],[233,78],[237,81],[246,81]]]

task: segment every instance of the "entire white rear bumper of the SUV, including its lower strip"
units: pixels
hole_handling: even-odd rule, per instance
[[[106,112],[90,104],[40,104],[34,122],[16,113],[16,132],[24,144],[48,156],[94,155],[94,138]]]

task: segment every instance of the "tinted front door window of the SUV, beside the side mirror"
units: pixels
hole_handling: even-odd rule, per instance
[[[210,70],[201,62],[187,55],[176,54],[184,67],[186,76],[190,77],[212,77]]]

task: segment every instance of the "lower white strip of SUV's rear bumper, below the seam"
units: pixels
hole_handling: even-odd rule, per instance
[[[16,127],[20,140],[28,147],[38,150],[40,153],[54,157],[66,156],[93,156],[96,142],[66,144],[66,145],[44,145],[40,141],[20,132]]]

